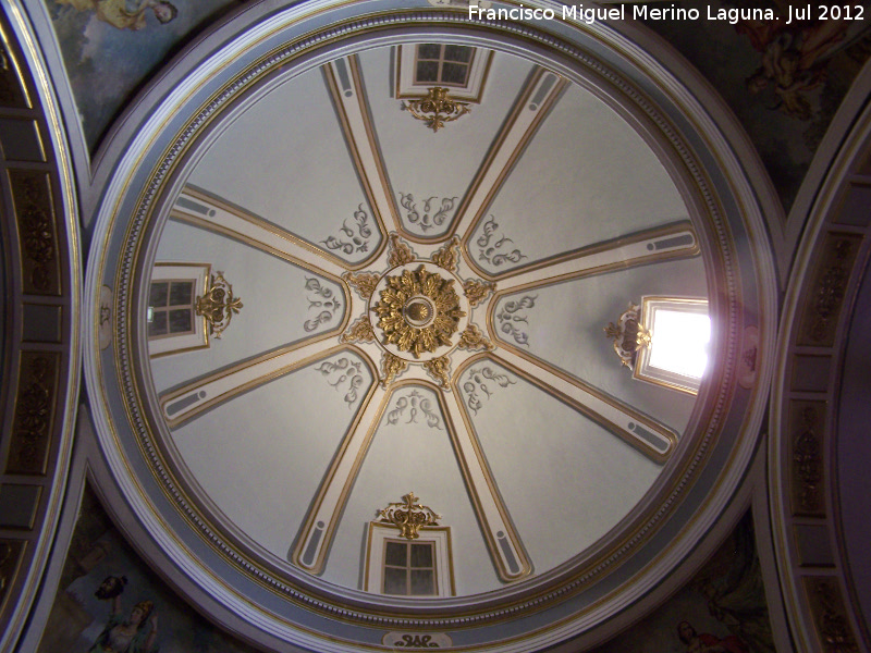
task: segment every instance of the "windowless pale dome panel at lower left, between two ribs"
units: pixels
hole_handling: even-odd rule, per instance
[[[348,394],[355,375],[360,383]],[[341,352],[200,415],[173,430],[172,443],[238,532],[286,559],[304,497],[315,496],[371,383],[368,367]]]

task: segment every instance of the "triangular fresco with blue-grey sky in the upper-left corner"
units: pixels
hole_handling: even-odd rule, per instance
[[[88,148],[181,45],[243,1],[46,0]]]

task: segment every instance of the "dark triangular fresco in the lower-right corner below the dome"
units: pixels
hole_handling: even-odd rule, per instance
[[[752,515],[684,589],[594,653],[775,653]]]

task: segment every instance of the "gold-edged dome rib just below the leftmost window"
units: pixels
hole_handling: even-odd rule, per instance
[[[160,396],[160,415],[171,429],[175,428],[243,392],[345,349],[344,346],[333,345],[331,336],[334,335],[331,332],[314,342],[306,341],[271,352],[168,392]],[[361,358],[366,359],[365,356]],[[370,371],[372,378],[377,379],[376,370]]]

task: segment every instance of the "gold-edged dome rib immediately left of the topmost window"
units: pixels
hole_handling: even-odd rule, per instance
[[[331,61],[324,64],[322,70],[327,81],[327,91],[339,116],[351,159],[382,234],[378,249],[369,257],[369,260],[372,260],[387,245],[388,229],[382,217],[390,215],[393,223],[400,225],[398,208],[389,194],[390,183],[378,149],[357,56]],[[336,82],[336,76],[342,79],[342,88]]]

